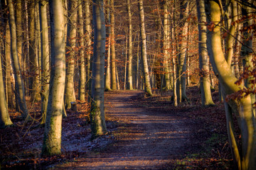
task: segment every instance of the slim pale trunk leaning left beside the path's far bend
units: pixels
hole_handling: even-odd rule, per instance
[[[140,18],[140,31],[141,31],[141,38],[142,38],[142,64],[143,64],[143,74],[144,74],[144,87],[146,94],[152,96],[151,85],[149,81],[149,68],[147,64],[147,57],[146,57],[146,32],[145,32],[145,19],[144,19],[144,7],[143,1],[138,0],[139,5],[139,18]]]

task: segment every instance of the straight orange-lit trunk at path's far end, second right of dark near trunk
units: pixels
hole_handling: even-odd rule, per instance
[[[110,29],[111,29],[111,83],[112,90],[117,90],[115,40],[114,40],[114,0],[110,0]]]

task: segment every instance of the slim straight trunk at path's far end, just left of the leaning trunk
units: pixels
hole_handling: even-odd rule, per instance
[[[127,0],[127,12],[128,12],[128,84],[127,89],[132,90],[132,13],[130,0]]]

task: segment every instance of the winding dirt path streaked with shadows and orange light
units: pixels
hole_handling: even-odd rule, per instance
[[[171,169],[171,160],[184,157],[193,143],[190,121],[136,105],[141,93],[107,93],[106,115],[119,122],[114,132],[116,141],[56,169]]]

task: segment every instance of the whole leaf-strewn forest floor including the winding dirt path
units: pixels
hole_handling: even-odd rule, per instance
[[[62,152],[41,157],[43,127],[35,116],[24,125],[11,113],[14,126],[0,130],[0,169],[233,169],[223,103],[203,108],[197,86],[188,87],[189,102],[174,107],[171,93],[110,91],[105,93],[108,132],[90,140],[89,106],[67,111]],[[40,106],[38,104],[38,106]]]

